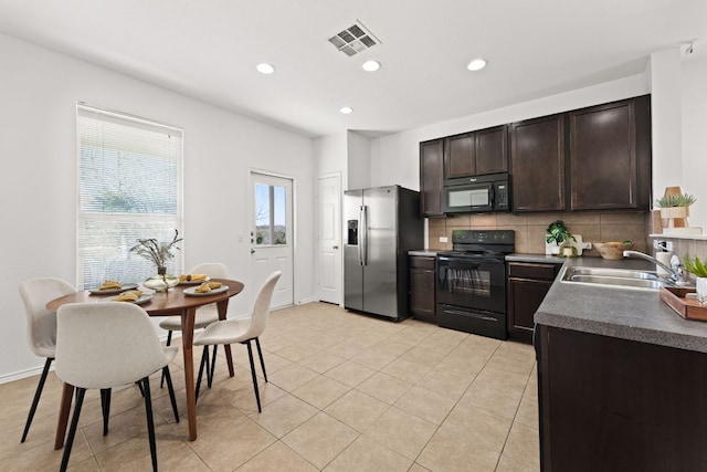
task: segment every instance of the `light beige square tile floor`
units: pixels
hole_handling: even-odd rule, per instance
[[[152,376],[161,470],[539,470],[531,346],[414,319],[392,323],[326,303],[273,312],[261,344],[270,380],[258,366],[263,412],[246,349],[233,346],[235,376],[228,376],[220,357],[213,388],[204,385],[200,394],[193,442]],[[197,361],[200,355],[194,353]],[[170,368],[183,417],[181,366],[177,356]],[[53,439],[61,382],[53,373],[20,444],[36,381],[0,385],[1,470],[59,469]],[[107,437],[95,391],[80,426],[71,470],[150,470],[144,403],[134,387],[114,391]]]

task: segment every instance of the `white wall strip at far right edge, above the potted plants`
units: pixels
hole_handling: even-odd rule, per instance
[[[683,191],[697,197],[689,225],[707,233],[707,57],[683,62]],[[667,157],[667,159],[671,159]],[[667,160],[666,159],[666,160]],[[674,161],[675,158],[671,159]],[[661,190],[661,189],[656,189]],[[705,256],[707,254],[697,254]]]

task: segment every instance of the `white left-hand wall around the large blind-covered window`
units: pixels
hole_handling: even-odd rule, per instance
[[[313,140],[0,35],[0,381],[41,366],[25,342],[18,283],[75,283],[76,118],[84,101],[184,129],[184,265],[222,261],[250,310],[249,170],[295,179],[295,302],[315,295]],[[139,176],[138,176],[139,177]],[[243,242],[239,242],[243,235]]]

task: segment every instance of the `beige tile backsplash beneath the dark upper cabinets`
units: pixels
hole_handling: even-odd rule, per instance
[[[514,230],[516,252],[542,254],[546,229],[556,220],[562,220],[572,234],[581,234],[584,242],[631,240],[634,250],[646,252],[648,249],[650,221],[642,212],[479,213],[430,218],[428,248],[452,249],[453,230]],[[446,237],[447,242],[440,242],[440,237]],[[592,248],[584,255],[599,256],[599,252]]]

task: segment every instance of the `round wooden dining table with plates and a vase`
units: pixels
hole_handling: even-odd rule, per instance
[[[181,344],[184,357],[184,384],[187,386],[187,416],[189,420],[189,440],[197,439],[197,398],[194,392],[194,365],[192,356],[192,342],[194,336],[194,316],[197,308],[203,305],[215,303],[219,310],[219,319],[225,319],[229,307],[229,300],[233,295],[238,295],[243,291],[243,284],[238,281],[226,279],[212,279],[228,286],[228,290],[213,295],[189,295],[184,290],[189,286],[178,285],[168,292],[154,293],[149,289],[140,286],[145,294],[154,293],[152,297],[141,304],[150,316],[181,316]],[[68,295],[54,298],[46,304],[46,310],[56,313],[56,310],[66,303],[98,303],[110,300],[113,295],[94,294],[88,291],[76,292]],[[231,357],[231,346],[225,346],[225,355],[229,364],[229,375],[233,377],[233,358]],[[54,440],[54,449],[61,449],[64,445],[64,437],[66,434],[66,424],[68,423],[68,413],[71,410],[72,396],[74,386],[64,384],[62,391],[62,402],[59,411],[59,423],[56,427],[56,438]]]

